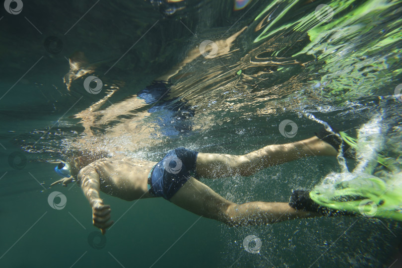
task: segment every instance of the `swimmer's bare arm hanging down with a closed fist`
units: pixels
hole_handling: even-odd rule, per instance
[[[113,221],[109,221],[112,210],[110,205],[103,204],[103,200],[99,197],[99,174],[95,168],[87,166],[79,171],[78,180],[81,182],[82,192],[92,207],[92,224],[105,234],[106,229],[113,224]]]

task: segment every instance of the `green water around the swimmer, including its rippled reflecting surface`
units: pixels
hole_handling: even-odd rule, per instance
[[[333,16],[317,19],[319,4]],[[384,150],[401,155],[402,102],[394,96],[402,83],[401,1],[233,5],[23,1],[15,15],[0,8],[0,267],[401,266],[401,224],[389,219],[229,228],[163,199],[102,194],[115,220],[103,241],[80,188],[49,188],[59,177],[48,162],[82,149],[152,161],[178,146],[244,154],[311,137],[322,126],[308,113],[353,135],[381,112]],[[63,48],[47,46],[49,36]],[[203,40],[217,44],[216,55],[199,55]],[[85,91],[89,75],[102,80],[99,94]],[[170,91],[135,106],[136,94],[160,77],[170,79]],[[286,119],[298,126],[293,137],[278,130]],[[335,157],[310,157],[201,182],[237,203],[287,202],[293,189],[312,189],[341,170]],[[66,196],[63,209],[49,205],[54,191]],[[243,247],[249,235],[261,239],[258,254]]]

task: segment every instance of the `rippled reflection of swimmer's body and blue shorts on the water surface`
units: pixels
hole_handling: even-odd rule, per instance
[[[238,50],[238,48],[233,48],[234,41],[246,28],[242,28],[227,39],[215,41],[214,44],[218,48],[216,57],[225,56]],[[205,48],[206,53],[211,50],[211,46]],[[83,134],[86,135],[74,144],[75,147],[77,149],[102,147],[106,137],[121,137],[129,134],[130,142],[127,142],[124,147],[122,147],[121,143],[116,144],[114,148],[115,150],[124,151],[131,149],[133,146],[140,148],[142,144],[155,145],[155,143],[159,142],[158,139],[155,139],[155,135],[156,137],[159,137],[159,134],[172,136],[192,130],[192,121],[189,119],[195,115],[195,111],[183,99],[183,92],[176,92],[176,88],[172,88],[169,81],[171,79],[178,79],[177,81],[179,81],[184,75],[189,75],[189,73],[179,74],[179,72],[200,57],[203,56],[199,47],[192,48],[182,62],[157,77],[137,94],[104,108],[118,89],[108,90],[107,95],[102,99],[74,115],[75,118],[81,119],[79,124],[84,127]],[[82,53],[73,54],[69,58],[69,62],[70,71],[65,77],[68,89],[73,80],[82,79],[87,74],[96,75],[95,67],[88,65]],[[158,120],[143,124],[151,113],[160,110],[163,113],[158,114]],[[101,130],[102,135],[97,135],[97,130]],[[105,133],[106,135],[103,135]],[[97,138],[93,139],[93,136],[97,136]]]

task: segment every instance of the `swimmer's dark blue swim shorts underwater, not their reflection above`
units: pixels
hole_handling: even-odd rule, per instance
[[[198,152],[183,147],[170,150],[149,173],[151,196],[170,200],[190,177],[196,177],[197,155]]]

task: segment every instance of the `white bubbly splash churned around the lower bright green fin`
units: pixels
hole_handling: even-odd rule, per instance
[[[389,166],[386,172],[384,166],[378,165],[378,155],[385,147],[385,130],[381,114],[364,124],[358,132],[358,163],[354,170],[330,173],[311,191],[310,197],[333,209],[402,221],[402,172],[398,165]]]

